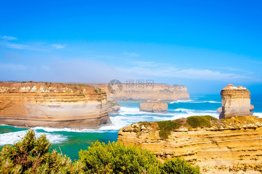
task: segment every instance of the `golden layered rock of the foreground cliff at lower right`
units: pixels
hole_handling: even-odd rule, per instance
[[[165,140],[159,137],[157,122],[131,124],[118,133],[125,145],[147,148],[161,162],[184,158],[199,165],[203,174],[262,172],[261,137],[262,119],[254,116],[212,120],[210,128],[181,126]]]

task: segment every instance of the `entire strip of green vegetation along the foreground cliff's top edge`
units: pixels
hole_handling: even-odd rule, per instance
[[[191,116],[186,119],[176,119],[176,120],[168,120],[168,121],[158,121],[159,127],[159,137],[161,139],[167,139],[172,131],[179,129],[182,125],[185,127],[211,127],[211,120],[217,120],[215,117],[210,115],[203,116]]]

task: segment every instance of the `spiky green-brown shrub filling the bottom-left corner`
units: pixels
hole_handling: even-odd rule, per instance
[[[0,173],[73,173],[70,158],[56,150],[49,151],[49,147],[45,135],[36,138],[34,131],[29,130],[13,146],[2,147]]]

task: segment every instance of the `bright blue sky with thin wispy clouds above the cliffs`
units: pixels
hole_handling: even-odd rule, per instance
[[[261,5],[2,1],[0,80],[144,79],[186,85],[189,94],[219,93],[232,83],[261,94]]]

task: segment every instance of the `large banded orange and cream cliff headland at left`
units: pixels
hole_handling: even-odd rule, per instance
[[[0,124],[97,128],[111,124],[106,94],[83,84],[0,83]]]

